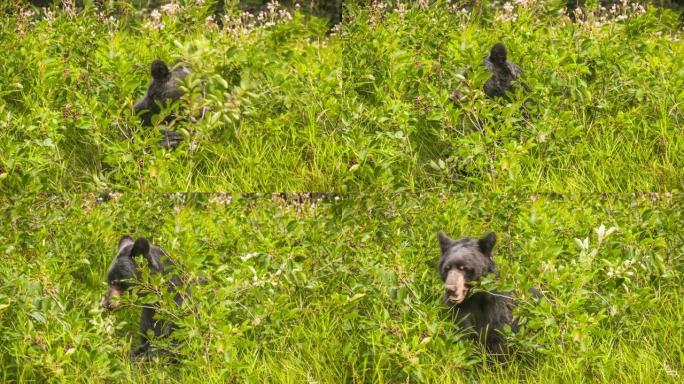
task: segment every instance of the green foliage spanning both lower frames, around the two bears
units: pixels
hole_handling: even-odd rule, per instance
[[[0,220],[4,381],[679,382],[680,196],[122,195],[26,198]],[[515,364],[482,366],[439,299],[436,232],[499,234],[500,288],[519,292]],[[206,285],[128,360],[140,302],[99,307],[123,234],[147,234]],[[151,292],[163,287],[150,278]],[[493,282],[486,282],[493,284]],[[536,286],[544,298],[524,292]],[[156,289],[154,287],[157,287]],[[153,295],[156,297],[156,295]],[[149,297],[149,295],[148,295]]]

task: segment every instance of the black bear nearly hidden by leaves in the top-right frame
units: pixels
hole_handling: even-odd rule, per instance
[[[485,68],[492,74],[484,85],[485,94],[492,99],[503,97],[510,101],[506,92],[514,89],[513,81],[518,80],[518,75],[522,72],[520,67],[508,61],[506,47],[501,43],[494,44],[484,62]]]

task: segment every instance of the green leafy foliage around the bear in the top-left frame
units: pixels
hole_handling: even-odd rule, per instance
[[[341,49],[325,20],[269,8],[219,30],[209,5],[110,12],[4,19],[0,188],[332,189],[343,149],[321,134],[337,124]],[[187,136],[172,152],[132,115],[155,58],[187,62],[186,113],[210,110],[172,127]]]

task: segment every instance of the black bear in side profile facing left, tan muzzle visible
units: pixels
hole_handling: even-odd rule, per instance
[[[104,308],[109,310],[115,309],[119,305],[118,297],[140,279],[141,273],[136,261],[138,256],[143,256],[147,260],[152,273],[166,274],[172,269],[173,263],[168,259],[163,249],[151,245],[147,239],[142,237],[133,241],[130,236],[123,236],[119,240],[117,255],[107,271],[109,287],[102,300]],[[172,292],[176,292],[181,285],[182,281],[178,276],[174,275],[169,280],[169,290]],[[174,296],[174,302],[178,305],[183,303],[183,296],[180,292]],[[167,336],[173,331],[174,325],[156,320],[154,318],[155,313],[156,308],[154,305],[142,306],[142,317],[140,319],[142,343],[133,349],[131,358],[142,355],[149,349],[150,340],[148,339],[147,331],[152,330],[154,336]]]

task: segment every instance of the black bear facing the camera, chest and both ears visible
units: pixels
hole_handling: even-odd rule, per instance
[[[496,235],[492,232],[479,240],[470,237],[452,240],[440,231],[438,237],[441,248],[439,275],[445,290],[443,302],[448,305],[456,323],[470,331],[469,338],[479,340],[490,354],[503,359],[508,348],[501,331],[507,325],[512,331],[517,330],[510,294],[469,293],[472,282],[489,273],[497,274],[492,261]]]

